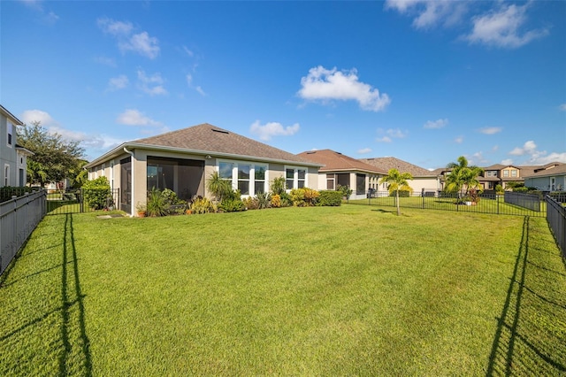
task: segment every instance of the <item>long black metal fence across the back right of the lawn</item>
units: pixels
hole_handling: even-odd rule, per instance
[[[479,194],[477,197],[463,197],[438,190],[426,190],[413,193],[401,193],[399,206],[401,208],[420,208],[455,212],[493,213],[499,215],[545,217],[547,204],[538,195],[530,196],[521,201],[507,201],[507,196],[494,192]],[[395,196],[387,191],[369,191],[365,199],[349,200],[350,204],[382,205],[395,207]],[[538,205],[537,205],[538,204]],[[525,206],[528,205],[528,206]]]

